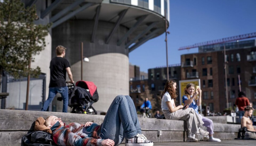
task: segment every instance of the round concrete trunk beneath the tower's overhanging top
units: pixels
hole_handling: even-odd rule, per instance
[[[83,63],[83,80],[92,81],[97,86],[98,102],[93,107],[98,112],[107,112],[112,100],[119,94],[129,95],[129,58],[125,44],[116,45],[118,37],[127,32],[126,27],[119,26],[109,44],[105,39],[113,23],[99,22],[94,43],[91,32],[94,21],[69,20],[52,29],[52,48],[63,45],[67,48],[65,58],[69,60],[75,82],[81,80],[81,42],[83,56],[90,62]],[[52,56],[55,50],[52,49]],[[67,80],[69,80],[67,78]]]

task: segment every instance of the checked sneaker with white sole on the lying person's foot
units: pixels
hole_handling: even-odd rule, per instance
[[[125,146],[153,146],[153,142],[145,139],[145,136],[143,136],[138,133],[135,137],[131,139],[126,139]]]

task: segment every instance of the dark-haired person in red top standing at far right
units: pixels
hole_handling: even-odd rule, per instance
[[[246,94],[241,91],[238,93],[238,98],[235,100],[235,105],[238,107],[239,111],[238,111],[238,115],[239,115],[239,118],[240,118],[240,121],[243,117],[243,115],[245,114],[245,107],[246,106],[249,106],[250,102],[249,102],[249,99],[246,97]],[[241,123],[239,121],[239,123]]]

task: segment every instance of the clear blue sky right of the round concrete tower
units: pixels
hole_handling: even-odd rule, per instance
[[[170,0],[168,64],[198,48],[179,47],[208,40],[256,32],[256,0]],[[254,38],[255,39],[255,38]],[[129,53],[129,61],[147,72],[166,65],[165,33]]]

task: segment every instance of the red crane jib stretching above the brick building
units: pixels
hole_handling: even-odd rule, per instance
[[[197,47],[200,47],[200,46],[211,45],[211,44],[226,43],[226,42],[230,42],[230,41],[234,41],[234,40],[241,40],[241,39],[247,39],[247,38],[253,38],[253,37],[256,37],[256,32],[249,33],[249,34],[231,36],[231,37],[222,38],[222,39],[210,40],[210,41],[207,41],[207,42],[195,43],[193,45],[180,47],[179,50],[197,48]]]

